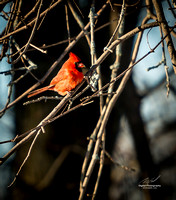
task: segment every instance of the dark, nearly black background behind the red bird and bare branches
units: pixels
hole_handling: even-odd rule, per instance
[[[42,11],[48,8],[50,3],[51,1],[44,1]],[[35,33],[32,44],[41,47],[44,44],[54,44],[68,38],[64,6],[66,3],[66,1],[62,1],[52,11],[47,13],[40,29]],[[78,3],[82,15],[84,16],[84,18],[82,18],[84,24],[87,24],[91,1],[76,1],[76,3]],[[127,1],[127,3],[136,6],[127,7],[124,33],[135,28],[139,21],[141,21],[140,13],[145,13],[145,7],[143,6],[144,1]],[[35,1],[23,1],[20,15],[24,16],[28,13],[34,4]],[[96,11],[98,11],[103,4],[104,2],[102,1],[95,1]],[[74,3],[73,5],[75,7]],[[118,18],[120,7],[114,6],[113,8],[115,9],[114,12],[111,10],[110,6],[107,6],[106,10],[99,17],[96,27],[109,21],[112,22],[113,19]],[[80,28],[69,9],[68,11],[70,33],[71,37],[74,37],[80,32]],[[32,19],[35,16],[36,12],[29,18]],[[97,57],[102,54],[103,48],[108,43],[116,23],[117,21],[95,33]],[[32,30],[31,28],[29,27],[27,30],[14,36],[15,41],[20,47],[27,42]],[[154,35],[152,37],[154,37]],[[121,66],[124,67],[119,69],[119,73],[122,72],[131,61],[133,43],[134,38],[123,43]],[[47,48],[47,54],[42,54],[31,47],[29,48],[26,55],[38,65],[38,69],[33,71],[38,79],[43,77],[49,66],[60,56],[67,45],[68,43],[64,43]],[[90,67],[90,49],[85,38],[80,39],[71,51],[77,54],[87,67]],[[155,55],[153,57],[155,57]],[[49,84],[52,77],[56,75],[67,58],[68,55],[52,72],[43,86]],[[109,66],[112,65],[113,62],[114,54],[108,56],[101,65],[103,84],[109,81],[111,73]],[[22,65],[23,64],[19,62],[14,67],[18,68]],[[147,66],[147,63],[145,65]],[[22,73],[23,72],[17,72],[14,78],[18,78]],[[171,90],[169,98],[175,101],[175,76],[172,70],[170,74],[173,90]],[[163,90],[165,87],[165,80],[163,76],[161,76],[160,83],[154,84],[152,88],[148,88],[145,92],[139,90],[135,81],[134,78],[130,78],[128,81],[125,90],[111,113],[106,127],[106,150],[113,155],[118,162],[122,162],[134,168],[135,172],[128,172],[120,167],[116,167],[106,158],[96,199],[175,199],[176,146],[173,141],[175,141],[176,115],[168,121],[165,120],[165,123],[162,123],[164,121],[162,118],[163,116],[158,116],[162,126],[159,126],[160,128],[158,129],[153,129],[153,134],[150,134],[150,131],[148,131],[146,127],[150,125],[152,116],[150,116],[151,120],[146,121],[141,114],[141,106],[145,99],[157,94],[157,92],[166,95],[166,91]],[[36,80],[28,74],[15,85],[15,97],[25,92],[34,83],[36,83]],[[117,82],[116,87],[118,84]],[[91,94],[92,92],[89,89],[84,96]],[[56,93],[48,92],[46,95],[52,96],[56,95]],[[161,98],[160,95],[156,97],[158,102]],[[16,104],[13,110],[15,113],[16,127],[14,135],[22,134],[35,127],[58,103],[54,100],[24,106],[23,103],[25,101],[27,101],[27,99],[23,99]],[[78,103],[79,101],[77,100],[74,102],[74,105]],[[163,113],[164,110],[168,108],[172,109],[172,107],[169,107],[169,102],[162,105]],[[173,109],[174,108],[175,107],[173,107]],[[99,114],[99,99],[97,98],[94,100],[93,104],[71,112],[48,125],[46,127],[46,133],[41,134],[37,139],[30,158],[17,177],[15,184],[5,189],[6,192],[3,198],[8,200],[49,198],[78,199],[81,167],[88,144],[87,138],[95,128]],[[164,117],[169,118],[167,117],[167,112]],[[155,121],[155,119],[153,119],[153,121]],[[11,166],[9,170],[9,182],[13,179],[23,162],[30,143],[31,141],[21,146],[16,152],[14,159],[9,163]],[[126,145],[124,145],[124,143]],[[92,198],[98,164],[97,162],[97,166],[90,179],[85,199]],[[51,172],[51,174],[48,175],[49,172]],[[160,178],[158,178],[154,184],[160,185],[160,188],[156,190],[145,190],[138,187],[140,181],[145,178],[152,180],[156,177]]]

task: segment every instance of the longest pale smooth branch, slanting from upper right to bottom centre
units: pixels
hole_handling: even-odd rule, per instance
[[[144,20],[143,20],[143,25],[149,20],[148,17],[146,17]],[[104,129],[105,129],[105,126],[106,126],[106,123],[108,121],[108,118],[110,116],[110,113],[112,111],[112,108],[115,104],[115,102],[117,101],[118,97],[120,96],[121,92],[123,91],[124,87],[125,87],[125,84],[127,82],[127,80],[129,79],[130,75],[131,75],[131,71],[132,71],[132,66],[134,66],[134,64],[137,64],[137,62],[135,62],[135,59],[136,59],[136,56],[137,56],[137,52],[138,52],[138,49],[139,49],[139,44],[140,44],[140,41],[141,41],[141,38],[142,38],[142,31],[139,33],[138,35],[138,38],[137,38],[137,42],[136,42],[136,45],[135,45],[135,48],[134,48],[134,51],[133,51],[133,56],[132,56],[132,61],[129,65],[129,67],[127,68],[127,70],[125,70],[125,76],[123,77],[118,89],[116,90],[116,94],[113,95],[113,97],[111,98],[109,104],[105,105],[104,108],[103,108],[103,112],[102,112],[102,115],[100,116],[100,119],[97,123],[97,126],[95,128],[95,130],[98,130],[98,134],[97,134],[97,140],[96,140],[96,143],[95,143],[95,147],[94,147],[94,151],[93,151],[93,154],[92,154],[92,157],[91,157],[91,161],[89,163],[89,166],[88,168],[85,166],[85,164],[87,164],[87,160],[88,160],[88,156],[86,155],[85,157],[85,163],[84,163],[84,180],[81,184],[81,187],[80,187],[80,196],[79,196],[79,200],[82,200],[83,197],[84,197],[84,194],[86,192],[86,188],[87,188],[87,185],[88,185],[88,182],[90,180],[90,177],[91,177],[91,174],[93,172],[93,169],[94,169],[94,166],[95,166],[95,163],[97,162],[97,157],[98,157],[98,154],[99,154],[99,148],[100,148],[100,144],[101,144],[101,137],[102,137],[102,134],[104,132]],[[158,45],[155,46],[155,48],[157,48]],[[109,52],[109,51],[108,51]],[[150,51],[150,53],[152,53],[152,51]],[[140,60],[142,60],[144,57],[148,56],[149,54],[147,53],[145,56],[143,56]],[[135,63],[134,63],[135,62]],[[101,123],[100,123],[101,122]],[[94,132],[95,132],[94,130]],[[94,138],[95,138],[95,135],[94,135]],[[89,145],[93,145],[89,142]],[[88,150],[90,149],[88,145]],[[90,156],[90,151],[87,151],[87,154],[89,154]],[[85,168],[87,168],[87,172],[85,173]]]

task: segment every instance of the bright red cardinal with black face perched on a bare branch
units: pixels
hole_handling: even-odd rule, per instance
[[[85,65],[81,59],[70,52],[69,59],[63,64],[58,74],[52,79],[49,86],[34,90],[29,93],[28,98],[40,94],[47,90],[53,90],[65,96],[67,92],[73,90],[84,78],[81,68]]]

